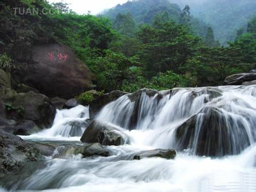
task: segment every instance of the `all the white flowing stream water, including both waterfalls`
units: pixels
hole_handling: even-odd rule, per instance
[[[53,127],[22,138],[81,145],[88,118],[88,107],[57,111]],[[130,145],[107,147],[110,157],[46,157],[4,179],[2,190],[256,191],[256,86],[144,90],[107,104],[96,120],[126,129]],[[178,153],[127,160],[154,148]]]

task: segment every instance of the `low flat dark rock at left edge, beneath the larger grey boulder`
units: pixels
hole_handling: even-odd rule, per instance
[[[21,122],[16,122],[15,120],[4,119],[0,120],[0,129],[15,135],[30,135],[40,130],[31,120],[21,120]]]

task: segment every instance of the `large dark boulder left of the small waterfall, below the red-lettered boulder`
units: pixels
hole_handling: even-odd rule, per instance
[[[51,127],[56,109],[45,95],[28,92],[18,93],[4,100],[10,118],[26,119],[39,127]]]

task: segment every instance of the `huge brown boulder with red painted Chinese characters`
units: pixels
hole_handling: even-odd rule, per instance
[[[76,58],[72,49],[61,44],[46,44],[33,47],[33,64],[24,64],[16,76],[48,97],[70,99],[86,90],[91,90],[94,75]]]

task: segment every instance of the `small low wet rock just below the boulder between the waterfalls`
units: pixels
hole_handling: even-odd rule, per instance
[[[75,150],[75,154],[82,154],[83,157],[91,157],[91,156],[102,156],[108,157],[111,155],[110,150],[103,148],[99,143],[92,143],[83,145],[83,147],[77,148]]]

